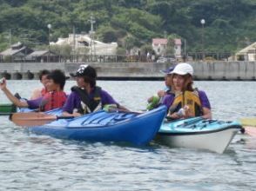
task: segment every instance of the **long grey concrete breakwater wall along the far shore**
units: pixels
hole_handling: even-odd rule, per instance
[[[66,76],[86,63],[0,63],[0,77],[38,79],[42,69],[62,69]],[[159,71],[172,63],[90,63],[104,80],[163,80]],[[191,62],[195,80],[256,80],[256,62]]]

